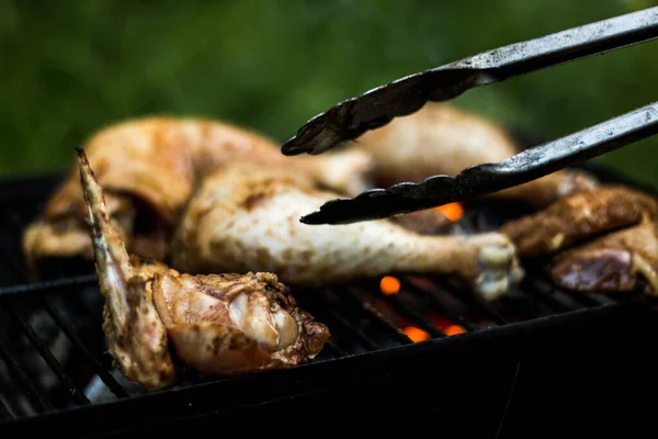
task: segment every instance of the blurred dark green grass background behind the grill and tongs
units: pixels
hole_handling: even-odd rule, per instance
[[[145,114],[206,115],[284,140],[398,77],[658,0],[0,0],[0,176],[63,170]],[[456,104],[553,138],[658,97],[658,42],[472,90]],[[658,185],[658,137],[600,159]]]

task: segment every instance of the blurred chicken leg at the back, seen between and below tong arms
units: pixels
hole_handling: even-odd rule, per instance
[[[435,102],[366,132],[349,146],[373,156],[379,187],[419,182],[435,175],[455,176],[468,167],[501,161],[520,151],[508,133],[495,123]],[[544,206],[594,185],[593,177],[583,171],[561,170],[490,195]]]

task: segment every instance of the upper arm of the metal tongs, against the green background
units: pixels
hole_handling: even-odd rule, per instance
[[[411,114],[428,101],[658,37],[658,7],[485,52],[411,75],[343,101],[303,125],[281,148],[321,154],[341,142]]]

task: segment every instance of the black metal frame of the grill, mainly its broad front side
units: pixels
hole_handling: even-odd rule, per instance
[[[587,168],[608,181],[633,184],[603,168]],[[36,182],[57,178],[59,176],[5,181],[0,183],[0,200],[43,196],[43,184]],[[93,283],[95,277],[82,281]],[[11,302],[20,307],[23,294],[30,297],[43,295],[48,306],[48,294],[75,285],[65,280],[45,286],[42,290],[25,285],[2,289],[0,303],[3,307],[9,303],[9,312],[13,313]],[[440,426],[441,431],[454,427],[467,435],[492,437],[503,418],[508,432],[519,427],[514,419],[533,418],[531,406],[548,408],[549,414],[548,395],[554,395],[557,401],[568,395],[569,401],[563,401],[560,412],[564,412],[578,403],[601,405],[614,391],[628,395],[626,385],[633,380],[642,382],[646,389],[649,365],[656,364],[646,347],[650,346],[658,327],[645,299],[597,304],[587,303],[590,299],[582,297],[583,308],[567,311],[559,301],[542,296],[541,292],[537,294],[543,306],[553,308],[549,314],[558,314],[479,329],[460,337],[445,337],[436,330],[432,334],[434,339],[421,344],[410,344],[393,328],[392,339],[402,346],[266,374],[196,383],[112,403],[84,405],[84,396],[79,395],[80,407],[0,424],[0,431],[26,435],[37,434],[41,428],[66,428],[69,437],[125,437],[126,431],[135,436],[164,432],[173,425],[216,428],[222,420],[253,424],[258,418],[259,423],[276,425],[290,416],[291,410],[300,418],[329,415],[341,423],[362,421],[363,410],[382,414],[395,407],[399,419],[413,418],[413,427],[428,424],[434,428]],[[387,301],[395,302],[398,297],[392,296]],[[474,306],[487,309],[481,303]],[[491,309],[488,312],[492,319],[501,318]],[[340,318],[340,314],[333,317]],[[433,326],[428,322],[424,325]],[[352,336],[367,345],[367,336],[354,329]],[[633,334],[631,339],[626,335],[628,331]],[[38,348],[38,342],[35,345]],[[2,349],[4,347],[0,346],[0,357],[7,359]],[[646,370],[645,375],[637,373],[637,364],[643,364],[640,369]],[[97,365],[103,370],[103,364]],[[620,371],[629,375],[611,381],[611,376],[619,376]],[[599,380],[606,385],[598,386]],[[529,389],[519,390],[522,385]],[[532,386],[541,392],[533,394]],[[571,386],[580,391],[575,393]],[[423,399],[432,392],[444,395],[447,403],[426,404]],[[606,399],[604,394],[609,396]],[[462,424],[461,407],[468,407],[469,416],[477,417],[477,423]],[[620,410],[615,414],[619,416]],[[421,420],[417,419],[419,416]],[[536,414],[534,417],[537,418]],[[585,419],[587,417],[580,416],[577,420],[585,425]]]

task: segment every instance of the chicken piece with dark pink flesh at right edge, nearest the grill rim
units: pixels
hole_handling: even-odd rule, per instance
[[[559,254],[552,275],[577,292],[658,295],[658,224],[645,222]]]

